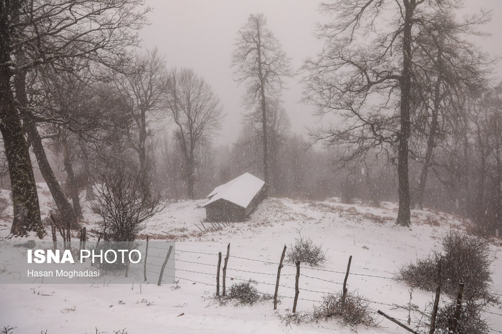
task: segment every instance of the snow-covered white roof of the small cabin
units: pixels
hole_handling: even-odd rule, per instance
[[[203,206],[211,204],[218,199],[224,199],[246,208],[256,194],[262,189],[264,181],[249,173],[244,173],[225,184],[217,186],[207,195],[209,201]]]

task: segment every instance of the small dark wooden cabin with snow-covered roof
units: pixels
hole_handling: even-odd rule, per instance
[[[203,207],[209,221],[244,221],[265,196],[265,182],[244,173],[214,188]]]

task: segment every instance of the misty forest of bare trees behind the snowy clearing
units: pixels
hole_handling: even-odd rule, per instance
[[[150,217],[162,201],[203,198],[250,172],[270,196],[398,202],[402,226],[427,207],[470,218],[479,233],[502,228],[502,84],[472,42],[489,13],[459,19],[456,0],[319,9],[329,19],[315,32],[322,50],[301,69],[263,14],[242,23],[227,56],[245,90],[242,111],[230,111],[209,78],[141,50],[141,0],[0,1],[11,233],[44,233],[34,168],[71,224],[83,218],[81,194],[112,198],[115,176]],[[291,130],[287,80],[303,84],[298,101],[319,126]],[[240,135],[215,144],[230,112],[243,115]]]

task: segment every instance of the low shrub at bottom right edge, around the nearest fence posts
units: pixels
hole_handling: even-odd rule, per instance
[[[460,317],[458,319],[458,332],[469,334],[487,334],[489,327],[482,314],[486,310],[488,304],[485,301],[475,301],[467,299],[462,302]],[[451,333],[453,314],[455,312],[456,301],[442,302],[438,306],[436,316],[437,334]],[[423,328],[425,332],[430,329],[432,303],[429,304],[426,310],[426,317],[418,324],[419,328]]]

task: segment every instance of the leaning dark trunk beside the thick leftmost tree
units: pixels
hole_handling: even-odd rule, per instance
[[[23,58],[23,53],[19,53],[18,61],[21,64],[23,63]],[[33,122],[30,112],[26,109],[28,106],[28,98],[26,96],[26,71],[21,71],[16,74],[14,86],[16,88],[16,98],[23,108],[23,110],[21,110],[24,124],[23,128],[33,146],[33,152],[37,158],[40,172],[42,173],[42,176],[51,191],[52,198],[54,199],[54,202],[56,203],[63,219],[65,219],[70,225],[73,225],[76,222],[76,216],[73,212],[73,208],[64,196],[63,190],[61,189],[61,186],[52,171],[47,155],[45,154],[44,146],[42,145],[42,138],[40,138],[37,126]]]

